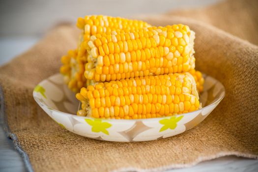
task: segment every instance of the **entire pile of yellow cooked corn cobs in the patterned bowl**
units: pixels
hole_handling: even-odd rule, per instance
[[[141,119],[201,108],[204,80],[195,70],[195,32],[109,16],[79,18],[78,48],[60,72],[81,101],[80,116]]]

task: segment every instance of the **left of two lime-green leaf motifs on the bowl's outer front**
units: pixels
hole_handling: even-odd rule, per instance
[[[95,133],[102,132],[106,135],[109,135],[109,132],[106,129],[110,128],[112,126],[112,124],[110,124],[108,122],[102,122],[101,119],[94,119],[94,120],[85,119],[85,121],[87,122],[87,124],[92,126],[92,128],[91,128],[92,132],[95,132]]]

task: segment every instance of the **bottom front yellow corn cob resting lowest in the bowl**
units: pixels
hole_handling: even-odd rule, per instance
[[[83,87],[77,115],[95,118],[141,119],[198,110],[201,105],[190,73],[146,76]]]

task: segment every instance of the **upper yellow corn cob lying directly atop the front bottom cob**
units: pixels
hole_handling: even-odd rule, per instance
[[[105,82],[188,72],[195,68],[194,38],[181,24],[96,34],[87,42],[85,77]]]

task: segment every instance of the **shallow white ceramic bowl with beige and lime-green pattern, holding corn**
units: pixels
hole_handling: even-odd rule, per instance
[[[79,101],[56,74],[43,80],[33,91],[38,105],[61,127],[75,134],[104,141],[141,142],[168,138],[198,125],[225,96],[224,86],[210,76],[204,76],[200,96],[202,107],[182,115],[149,119],[96,119],[75,115]]]

